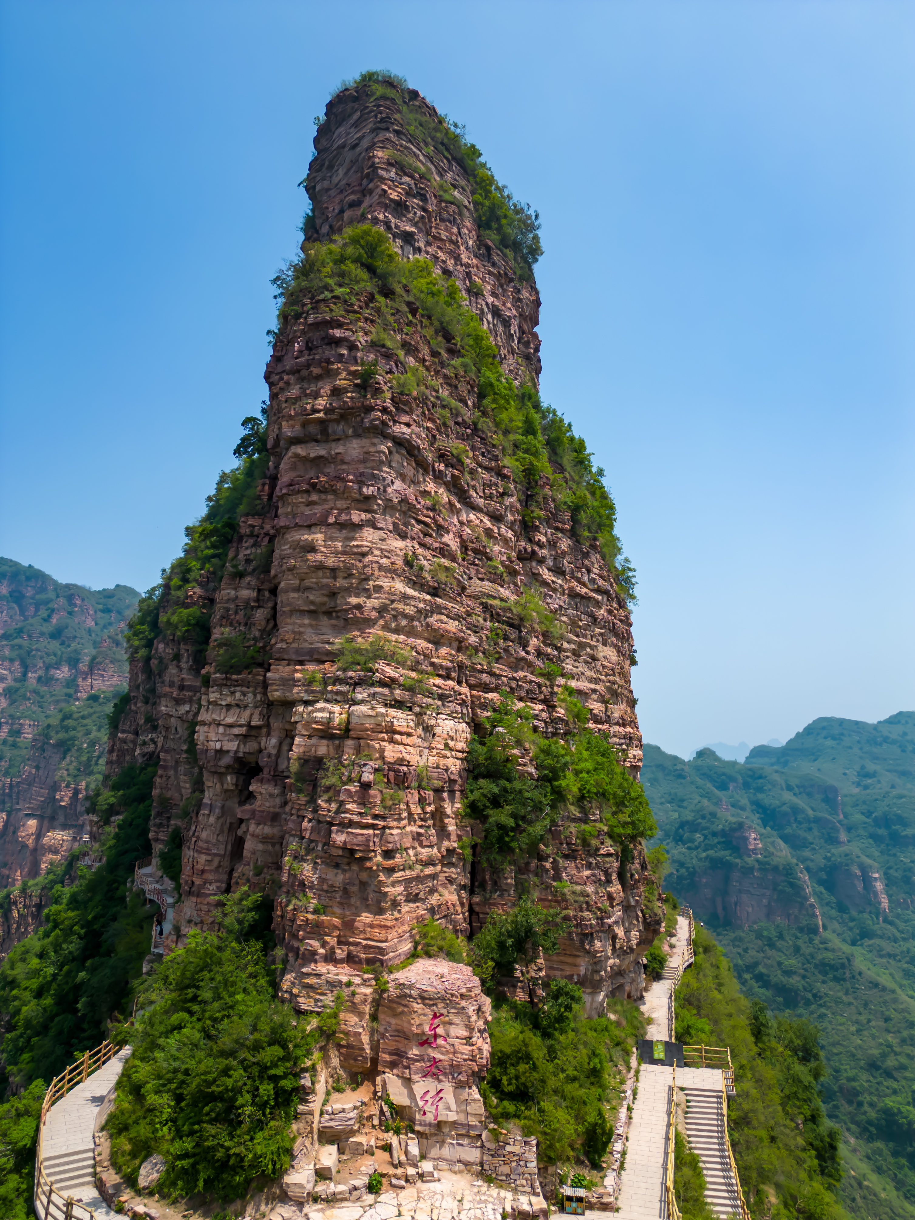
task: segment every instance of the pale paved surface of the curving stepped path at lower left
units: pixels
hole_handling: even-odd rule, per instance
[[[72,1196],[84,1204],[74,1216],[85,1215],[93,1208],[100,1220],[113,1220],[115,1213],[105,1204],[95,1188],[95,1120],[105,1096],[127,1063],[131,1048],[124,1047],[113,1059],[94,1072],[82,1085],[71,1088],[66,1097],[48,1111],[41,1139],[41,1165],[55,1190],[66,1198]],[[48,1213],[62,1216],[60,1200],[51,1203]],[[45,1200],[35,1200],[35,1211],[44,1216]]]

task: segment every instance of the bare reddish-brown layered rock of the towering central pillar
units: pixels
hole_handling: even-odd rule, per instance
[[[410,99],[415,115],[371,85],[329,104],[307,178],[314,226],[327,237],[370,221],[404,256],[432,259],[504,367],[536,378],[534,284],[479,240],[467,174],[411,134],[434,111]],[[151,666],[132,671],[109,765],[159,758],[155,845],[185,819],[178,943],[212,925],[227,891],[267,887],[298,1006],[327,1006],[349,980],[361,999],[348,1009],[367,1013],[372,981],[354,972],[403,961],[431,916],[468,933],[525,882],[554,905],[556,883],[572,887],[571,931],[545,970],[581,982],[597,1011],[642,991],[662,915],[643,909],[643,852],[626,866],[611,845],[589,854],[570,815],[536,859],[490,876],[461,798],[475,726],[503,693],[539,732],[567,728],[547,665],[638,772],[630,615],[597,543],[576,540],[548,489],[525,521],[458,348],[417,322],[395,351],[378,343],[383,323],[370,298],[359,311],[318,298],[283,323],[265,375],[262,512],[242,520],[220,587],[183,595],[212,609],[207,664],[201,675],[190,645],[157,638]],[[398,389],[407,368],[451,406]],[[529,589],[561,633],[512,609]],[[336,664],[353,636],[383,636],[387,659]],[[270,660],[226,672],[218,649],[232,639]],[[354,1063],[373,1057],[370,1024],[350,1031]]]

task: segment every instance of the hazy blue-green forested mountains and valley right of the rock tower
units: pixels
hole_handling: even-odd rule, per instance
[[[915,1218],[913,753],[915,712],[822,717],[743,764],[647,747],[642,772],[666,883],[750,999],[819,1026],[841,1197],[871,1218]]]

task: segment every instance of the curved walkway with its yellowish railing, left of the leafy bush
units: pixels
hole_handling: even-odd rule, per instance
[[[99,1048],[100,1052],[104,1048]],[[92,1071],[77,1061],[67,1074],[55,1077],[45,1094],[43,1122],[35,1158],[35,1215],[39,1220],[115,1220],[95,1187],[95,1121],[105,1096],[131,1054],[124,1047],[110,1058],[98,1055],[100,1066]],[[83,1072],[85,1078],[83,1080]],[[71,1085],[71,1080],[74,1082]],[[60,1099],[57,1099],[60,1098]],[[68,1200],[72,1199],[72,1207]],[[70,1207],[70,1210],[67,1210]]]

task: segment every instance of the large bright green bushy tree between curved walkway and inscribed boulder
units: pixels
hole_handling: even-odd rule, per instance
[[[107,1122],[116,1168],[137,1181],[154,1152],[170,1194],[244,1194],[289,1168],[299,1072],[322,1031],[274,998],[256,939],[261,895],[224,900],[220,933],[192,932],[143,986],[133,1053]],[[127,1031],[124,1031],[127,1033]]]

